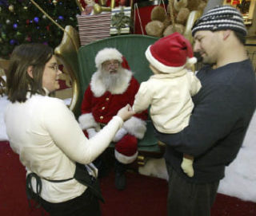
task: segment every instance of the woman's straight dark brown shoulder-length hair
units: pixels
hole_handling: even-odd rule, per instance
[[[27,92],[31,95],[46,95],[42,88],[42,73],[53,54],[53,49],[43,44],[22,44],[15,47],[6,73],[7,95],[11,102],[25,102]],[[27,73],[30,66],[33,78]]]

